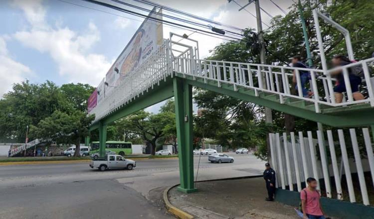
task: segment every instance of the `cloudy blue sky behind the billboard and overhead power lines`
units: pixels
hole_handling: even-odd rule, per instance
[[[110,2],[126,9],[147,14],[129,6]],[[135,0],[123,0],[148,9],[151,6]],[[204,18],[239,28],[255,28],[256,18],[227,0],[152,0]],[[235,0],[244,5],[247,0]],[[272,0],[288,11],[292,0]],[[261,7],[272,16],[284,13],[271,0],[260,0]],[[254,4],[246,9],[255,14]],[[104,12],[103,12],[104,11]],[[175,15],[175,14],[171,14]],[[261,11],[263,22],[270,25],[270,16]],[[88,83],[96,87],[105,77],[143,18],[126,14],[83,0],[3,0],[0,7],[0,97],[14,83],[53,81]],[[264,24],[263,24],[264,25]],[[263,26],[267,28],[266,25]],[[164,25],[164,38],[170,32],[191,34],[193,31]],[[193,33],[198,40],[200,57],[222,39]],[[151,107],[155,111],[159,105]]]

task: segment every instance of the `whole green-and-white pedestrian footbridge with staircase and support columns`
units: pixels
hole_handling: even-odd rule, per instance
[[[182,49],[181,49],[182,48]],[[165,39],[145,63],[125,76],[105,99],[90,113],[95,114],[91,130],[99,128],[102,154],[106,127],[113,121],[175,97],[176,121],[184,192],[194,191],[192,159],[192,87],[228,95],[263,107],[334,127],[374,124],[374,93],[371,71],[374,58],[330,70],[303,69],[280,65],[263,65],[199,59],[197,46]],[[362,66],[365,79],[361,90],[365,100],[355,101],[349,83],[349,68]],[[333,71],[341,70],[347,93],[343,103],[334,98]],[[295,71],[298,91],[292,92]],[[299,71],[311,73],[312,98],[302,96]]]

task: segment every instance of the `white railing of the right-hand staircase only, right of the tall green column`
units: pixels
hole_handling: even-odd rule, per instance
[[[370,64],[374,58],[362,60],[346,66],[341,66],[328,71],[309,68],[294,68],[288,66],[262,65],[253,63],[238,63],[215,60],[196,60],[179,57],[173,62],[175,72],[191,75],[194,78],[202,78],[204,82],[214,80],[220,87],[222,83],[238,87],[250,88],[258,92],[266,92],[279,95],[280,103],[284,103],[285,97],[292,97],[315,104],[315,111],[320,112],[319,104],[331,107],[347,106],[359,103],[370,103],[374,107],[373,77],[370,72]],[[361,91],[367,94],[365,100],[354,100],[349,80],[349,71],[353,66],[361,66],[364,71],[364,79],[361,84]],[[293,72],[296,72],[296,86],[298,94],[291,94],[293,86]],[[302,82],[300,71],[307,73],[310,77],[309,89],[314,92],[312,98],[306,98],[302,93]],[[341,71],[345,78],[344,83],[347,89],[346,97],[342,103],[336,103],[334,97],[334,84],[336,79],[331,75],[333,72]],[[369,83],[367,83],[369,82]],[[304,86],[305,87],[305,86]]]

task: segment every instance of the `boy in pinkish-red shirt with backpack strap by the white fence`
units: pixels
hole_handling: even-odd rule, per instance
[[[320,202],[321,196],[317,190],[317,180],[309,177],[307,183],[308,187],[300,193],[304,219],[325,219]]]

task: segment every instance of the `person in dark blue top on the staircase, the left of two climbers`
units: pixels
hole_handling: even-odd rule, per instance
[[[302,60],[303,60],[303,58],[301,56],[299,56],[299,55],[292,57],[291,58],[292,67],[305,68],[305,69],[308,68],[302,62]],[[300,74],[300,83],[301,83],[301,90],[303,92],[303,97],[304,98],[311,98],[311,97],[313,97],[314,93],[305,88],[306,83],[308,82],[308,80],[310,80],[310,72],[309,71],[304,71],[304,70],[299,70],[299,74]],[[297,80],[296,80],[296,70],[294,70],[294,72],[293,72],[292,81],[293,81],[293,83],[296,84],[295,89],[297,90],[298,89],[298,87],[297,87],[298,85],[297,85]]]

